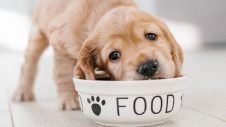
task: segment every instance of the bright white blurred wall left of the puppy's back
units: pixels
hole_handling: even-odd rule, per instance
[[[34,0],[0,0],[0,50],[24,51]]]

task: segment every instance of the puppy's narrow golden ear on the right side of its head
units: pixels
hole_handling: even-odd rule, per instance
[[[184,62],[183,51],[166,25],[164,25],[163,33],[167,41],[170,43],[172,59],[176,66],[175,77],[181,77],[181,70]]]

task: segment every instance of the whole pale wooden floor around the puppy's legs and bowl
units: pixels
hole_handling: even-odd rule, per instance
[[[36,101],[12,103],[23,54],[0,50],[0,127],[100,127],[80,111],[59,111],[52,80],[52,57],[42,57]],[[226,127],[226,50],[188,52],[189,77],[181,112],[157,127]]]

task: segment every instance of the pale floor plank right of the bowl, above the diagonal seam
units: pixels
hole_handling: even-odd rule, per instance
[[[226,50],[187,53],[185,58],[189,75],[185,103],[226,121]]]

